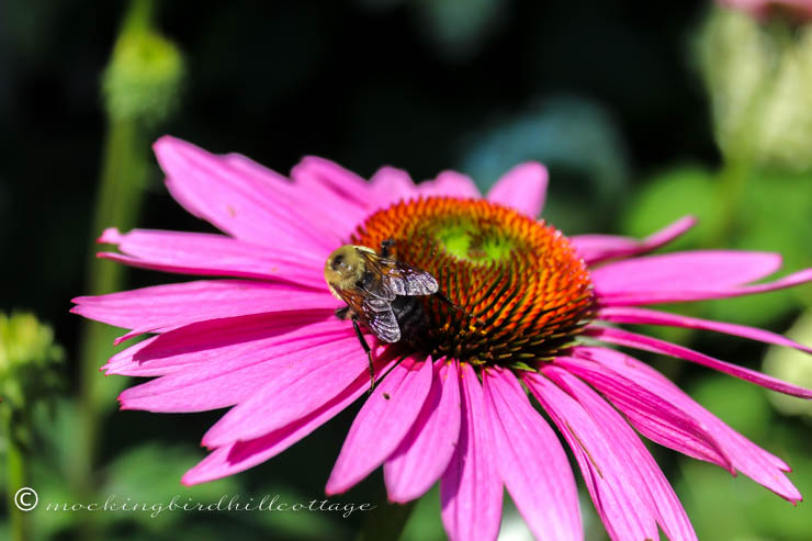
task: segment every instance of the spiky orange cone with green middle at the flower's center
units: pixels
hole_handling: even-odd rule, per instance
[[[437,278],[437,296],[420,297],[425,329],[405,341],[435,357],[473,364],[532,368],[569,346],[593,317],[584,261],[554,227],[484,200],[428,198],[366,218],[351,243]]]

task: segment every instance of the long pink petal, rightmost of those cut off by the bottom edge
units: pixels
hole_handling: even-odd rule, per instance
[[[636,475],[632,475],[630,482],[635,485],[638,494],[653,512],[668,539],[670,541],[696,540],[697,534],[674,488],[629,424],[595,391],[565,370],[550,365],[544,369],[544,374],[584,406],[595,424],[604,431],[607,440],[613,441],[612,449],[618,458],[628,464],[630,470],[636,471]]]

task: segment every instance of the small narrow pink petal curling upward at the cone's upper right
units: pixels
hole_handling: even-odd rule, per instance
[[[625,258],[655,250],[681,236],[696,223],[696,217],[683,216],[643,240],[613,235],[575,235],[569,237],[569,241],[587,263],[596,264],[607,259]]]

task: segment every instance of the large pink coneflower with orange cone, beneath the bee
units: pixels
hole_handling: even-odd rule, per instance
[[[108,374],[158,376],[126,390],[122,408],[203,412],[234,406],[203,437],[212,452],[188,485],[263,462],[363,397],[366,357],[328,292],[323,269],[345,244],[379,249],[435,275],[460,307],[421,298],[421,347],[376,343],[375,372],[327,481],[342,493],[379,466],[405,503],[440,482],[452,540],[495,539],[503,485],[530,530],[583,539],[575,478],[533,396],[567,441],[612,539],[696,539],[635,430],[736,471],[789,501],[801,499],[779,458],[763,450],[636,359],[601,343],[696,362],[794,396],[812,391],[613,324],[699,328],[810,351],[765,330],[640,305],[747,295],[812,280],[812,269],[753,284],[780,267],[775,253],[685,251],[645,256],[692,224],[643,240],[572,238],[537,222],[546,171],[523,164],[482,199],[447,171],[415,185],[383,168],[370,182],[319,158],[289,180],[240,155],[214,156],[163,137],[155,145],[167,187],[225,235],[108,229],[101,257],[184,274],[232,277],[79,297],[74,311],[155,336],[115,354]],[[398,363],[401,359],[405,359]],[[380,375],[379,375],[380,376]],[[529,391],[529,393],[528,393]]]

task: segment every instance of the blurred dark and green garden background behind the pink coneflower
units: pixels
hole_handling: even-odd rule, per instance
[[[1,406],[7,428],[23,427],[3,432],[0,452],[26,465],[22,477],[0,467],[0,483],[11,496],[26,483],[50,501],[324,497],[358,405],[268,463],[185,488],[180,476],[222,412],[117,412],[126,380],[95,372],[115,331],[68,314],[78,294],[173,280],[93,261],[104,226],[211,230],[163,189],[156,136],[240,151],[281,172],[305,154],[364,177],[382,165],[416,180],[455,168],[483,190],[537,159],[551,172],[544,216],[566,234],[645,236],[695,214],[700,225],[675,248],[780,251],[787,270],[800,270],[812,266],[809,29],[707,1],[0,2],[0,309],[18,311],[0,320],[0,388],[18,397]],[[812,343],[811,290],[672,308],[791,328]],[[647,330],[812,385],[809,356]],[[808,404],[645,359],[783,458],[812,495]],[[805,504],[652,451],[700,539],[812,539]],[[383,497],[376,473],[334,500]],[[604,539],[583,504],[588,539]],[[36,509],[21,522],[3,509],[0,539],[354,539],[365,518]],[[403,539],[444,539],[436,489]],[[509,503],[503,539],[530,539]]]

